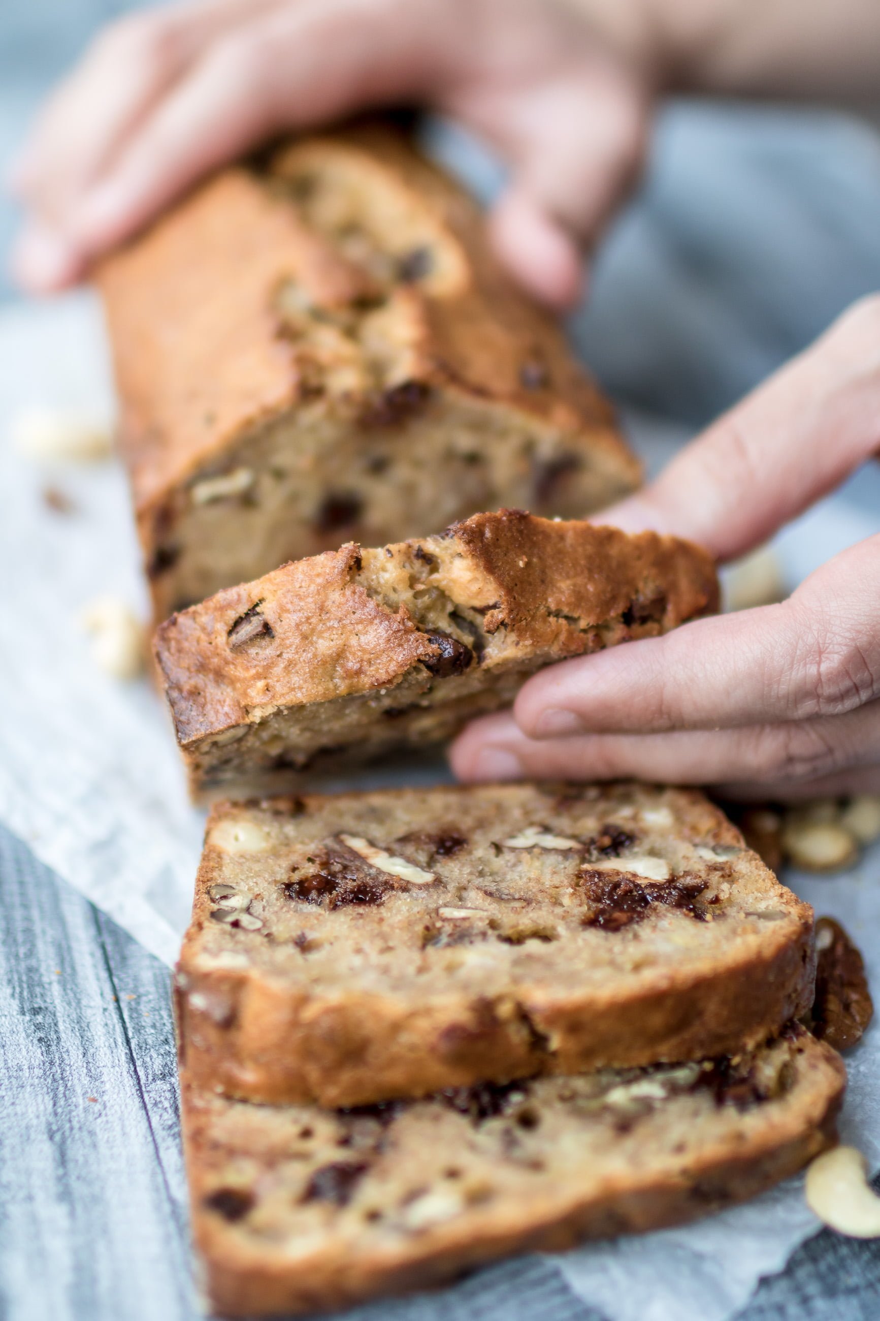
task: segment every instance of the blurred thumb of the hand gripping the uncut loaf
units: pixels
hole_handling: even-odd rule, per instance
[[[648,110],[636,79],[603,58],[517,90],[501,144],[513,176],[491,234],[504,264],[542,301],[578,300],[583,250],[640,173]]]

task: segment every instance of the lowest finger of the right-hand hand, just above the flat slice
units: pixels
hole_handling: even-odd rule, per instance
[[[509,715],[475,721],[450,761],[468,781],[619,779],[669,785],[814,785],[880,764],[880,703],[846,716],[665,734],[530,740]]]

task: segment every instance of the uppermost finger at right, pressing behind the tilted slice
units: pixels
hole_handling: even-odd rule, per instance
[[[625,531],[687,536],[728,560],[761,544],[880,450],[880,296],[687,445],[652,486],[607,511]]]

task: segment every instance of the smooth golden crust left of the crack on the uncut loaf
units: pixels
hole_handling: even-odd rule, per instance
[[[285,279],[330,306],[364,287],[293,207],[237,168],[104,262],[98,283],[140,518],[298,398],[297,354],[274,306]]]

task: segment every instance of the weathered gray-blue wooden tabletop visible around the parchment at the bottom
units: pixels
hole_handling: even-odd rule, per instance
[[[0,828],[0,1318],[194,1321],[169,972]],[[876,1321],[823,1232],[743,1321]],[[350,1321],[599,1321],[541,1258]]]

